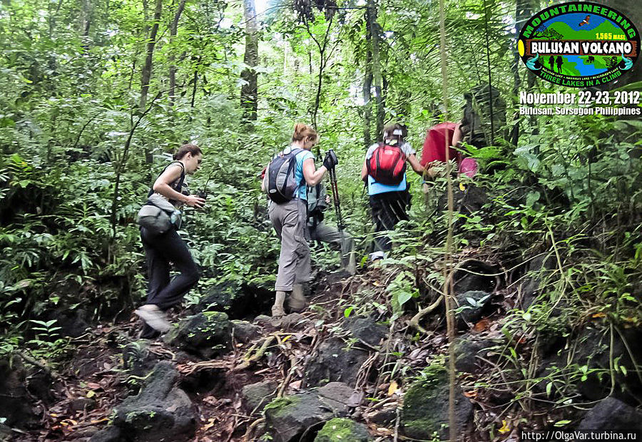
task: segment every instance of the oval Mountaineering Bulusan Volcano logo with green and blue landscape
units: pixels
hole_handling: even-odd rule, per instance
[[[616,81],[633,68],[640,34],[631,20],[609,6],[571,1],[526,21],[517,51],[539,78],[587,88]]]

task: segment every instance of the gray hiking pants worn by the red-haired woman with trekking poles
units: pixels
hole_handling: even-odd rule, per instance
[[[267,210],[281,240],[279,272],[275,290],[290,292],[294,284],[310,281],[310,246],[307,244],[307,202],[295,198],[283,204],[272,202]]]

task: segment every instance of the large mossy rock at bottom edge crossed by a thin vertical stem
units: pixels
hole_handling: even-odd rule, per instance
[[[425,380],[412,384],[404,394],[401,425],[404,435],[431,439],[435,434],[448,433],[448,372],[443,366],[429,366]],[[472,413],[472,404],[457,387],[455,417],[459,431],[464,429]]]

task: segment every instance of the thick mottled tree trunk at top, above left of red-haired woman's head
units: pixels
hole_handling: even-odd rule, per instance
[[[258,81],[254,68],[258,65],[258,26],[256,23],[256,8],[254,0],[243,0],[243,16],[245,18],[245,56],[243,63],[248,67],[243,69],[241,79],[241,107],[243,118],[255,121],[258,110]]]

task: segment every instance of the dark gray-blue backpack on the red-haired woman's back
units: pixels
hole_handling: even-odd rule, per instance
[[[295,178],[296,157],[302,151],[303,149],[296,148],[287,153],[281,152],[267,165],[264,178],[265,190],[272,202],[283,204],[292,200],[299,187],[304,184],[305,180],[297,183]]]

